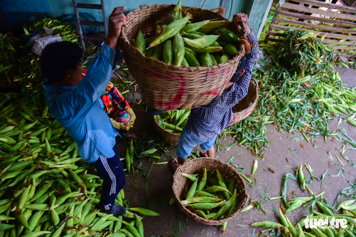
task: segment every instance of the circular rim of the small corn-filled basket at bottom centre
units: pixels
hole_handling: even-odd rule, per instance
[[[214,161],[214,162],[217,162],[217,163],[220,163],[222,165],[228,165],[230,166],[233,170],[234,170],[234,173],[236,175],[236,177],[238,177],[240,179],[240,181],[242,182],[242,187],[243,187],[243,191],[244,191],[244,198],[243,198],[243,201],[241,203],[241,208],[235,210],[230,217],[227,217],[225,219],[219,219],[219,220],[209,220],[209,219],[204,219],[200,216],[198,216],[197,214],[191,212],[189,209],[187,209],[184,205],[181,204],[180,200],[179,200],[179,197],[178,197],[178,194],[175,192],[175,184],[176,184],[176,180],[177,180],[177,177],[179,174],[181,174],[183,171],[184,171],[184,168],[188,165],[190,165],[191,163],[194,163],[194,162],[197,162],[198,160],[210,160],[210,161]],[[248,199],[248,195],[247,195],[247,192],[246,192],[246,185],[245,185],[245,182],[243,181],[243,179],[241,178],[240,174],[237,172],[237,170],[235,168],[233,168],[231,165],[229,164],[226,164],[224,162],[221,162],[220,160],[216,159],[216,158],[211,158],[211,157],[198,157],[198,158],[194,158],[192,160],[189,160],[187,162],[185,162],[183,165],[179,165],[179,167],[177,168],[177,170],[175,171],[174,173],[174,176],[173,176],[173,185],[172,185],[172,189],[173,189],[173,193],[174,193],[174,196],[176,198],[176,202],[179,206],[179,208],[181,209],[181,211],[184,212],[184,214],[186,214],[187,216],[190,217],[190,215],[192,216],[191,218],[194,219],[195,221],[199,222],[199,223],[202,223],[202,224],[207,224],[207,225],[221,225],[223,224],[224,222],[228,221],[228,220],[231,220],[231,219],[234,219],[235,216],[242,210],[242,206],[245,205],[247,199]],[[188,215],[189,213],[189,215]]]

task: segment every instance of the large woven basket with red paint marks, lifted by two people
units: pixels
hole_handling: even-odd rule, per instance
[[[120,40],[125,63],[148,107],[165,111],[209,104],[222,93],[224,85],[235,73],[238,62],[245,53],[245,48],[241,45],[239,54],[233,59],[216,66],[201,67],[176,67],[146,57],[133,45],[138,30],[149,35],[156,32],[157,25],[169,24],[174,7],[174,4],[154,4],[131,11]],[[201,8],[182,6],[182,9],[192,14],[192,22],[206,19],[227,20],[218,13]],[[229,24],[228,28],[237,36],[243,36],[243,25],[243,30],[238,30],[233,24]]]

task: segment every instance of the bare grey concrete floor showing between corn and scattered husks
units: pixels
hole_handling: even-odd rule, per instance
[[[355,69],[339,67],[337,70],[346,86],[356,87]],[[144,129],[142,126],[148,123],[148,119],[142,111],[138,110],[138,108],[134,108],[134,110],[138,115],[138,118],[133,131],[139,136],[140,132]],[[342,117],[346,118],[347,115]],[[152,120],[150,122],[152,122]],[[344,128],[347,134],[352,139],[356,140],[356,128],[354,126],[345,122],[341,123],[339,127],[336,127],[337,122],[338,118],[331,121],[329,129],[339,130]],[[327,141],[324,141],[323,137],[317,136],[311,137],[310,141],[307,142],[300,133],[289,134],[288,132],[285,132],[283,134],[277,131],[274,125],[267,126],[266,136],[269,141],[269,146],[263,152],[265,158],[262,161],[260,157],[253,155],[251,151],[240,146],[234,146],[229,150],[220,150],[216,154],[218,159],[222,162],[226,162],[232,156],[240,153],[234,158],[233,163],[246,168],[247,170],[244,172],[246,175],[251,173],[254,159],[260,161],[255,173],[257,184],[254,187],[250,187],[246,184],[246,190],[249,199],[257,200],[262,203],[262,207],[267,212],[266,214],[257,208],[238,214],[235,220],[230,220],[228,222],[226,228],[227,231],[222,234],[221,226],[209,226],[198,223],[184,215],[178,209],[177,204],[169,205],[168,201],[173,195],[173,172],[168,164],[153,166],[148,179],[148,199],[146,199],[145,194],[146,179],[142,175],[132,178],[128,177],[127,184],[124,188],[126,197],[132,206],[138,206],[145,203],[151,205],[155,211],[160,213],[160,216],[158,217],[145,217],[143,219],[145,236],[260,236],[260,231],[266,228],[253,228],[250,224],[263,220],[278,221],[278,207],[281,202],[280,199],[267,202],[262,199],[260,194],[262,193],[266,195],[263,184],[270,198],[281,196],[283,177],[287,173],[295,174],[293,168],[297,168],[301,164],[309,164],[314,169],[313,175],[318,178],[320,178],[327,170],[323,181],[314,179],[309,186],[315,194],[325,191],[323,197],[332,204],[334,204],[334,201],[342,188],[355,182],[355,168],[348,164],[347,161],[341,157],[339,152],[345,144],[338,142],[335,138],[328,137]],[[221,142],[226,146],[233,143],[231,139],[226,139]],[[349,147],[352,146],[349,145]],[[356,163],[355,151],[352,148],[347,148],[344,155]],[[167,153],[167,155],[176,157],[175,148],[169,147],[168,149],[169,153]],[[337,161],[336,155],[344,164],[343,166]],[[162,155],[162,157],[165,157],[165,155]],[[138,161],[135,162],[138,163]],[[152,160],[150,162],[152,162]],[[142,168],[145,169],[147,166],[148,159],[143,158]],[[343,172],[345,178],[341,175],[333,177],[338,173],[339,167],[342,167],[345,170]],[[307,180],[310,180],[310,175],[307,170],[304,171],[304,174],[307,177]],[[297,182],[293,180],[291,180],[291,183],[297,184]],[[298,187],[298,184],[296,186],[288,184],[287,194],[290,198],[310,196],[308,192],[303,192],[301,188]],[[245,203],[245,206],[249,204],[248,202],[249,201]],[[288,217],[293,224],[296,224],[296,222],[307,213],[308,207],[294,210],[288,214]],[[179,232],[178,222],[182,224],[182,232]]]

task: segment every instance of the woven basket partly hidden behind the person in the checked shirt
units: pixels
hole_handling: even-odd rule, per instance
[[[241,120],[247,118],[255,109],[255,106],[257,105],[257,99],[258,99],[258,84],[256,79],[251,79],[248,88],[248,94],[232,108],[234,113],[234,118],[229,126],[236,124]]]

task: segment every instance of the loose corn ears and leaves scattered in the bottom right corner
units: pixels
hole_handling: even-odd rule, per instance
[[[308,166],[307,169],[309,170]],[[310,171],[309,171],[310,172]],[[286,195],[286,182],[287,177],[296,179],[300,183],[300,187],[303,190],[308,190],[312,195],[310,197],[295,197],[287,201]],[[279,209],[280,222],[274,222],[270,220],[259,221],[251,224],[252,226],[263,226],[268,229],[262,232],[270,232],[268,236],[271,236],[273,232],[277,232],[277,236],[283,237],[355,237],[356,230],[354,229],[356,224],[356,204],[355,199],[342,201],[337,205],[338,198],[334,206],[330,206],[326,203],[325,199],[318,200],[317,198],[323,195],[325,192],[321,192],[315,195],[313,191],[308,187],[308,182],[303,174],[302,165],[296,170],[296,175],[287,174],[283,180],[285,184],[282,187],[282,198],[286,202],[285,214]],[[308,215],[299,220],[296,225],[293,225],[287,214],[293,210],[300,211],[302,207],[306,207],[309,204]],[[316,211],[314,206],[317,206],[321,211]],[[284,208],[283,208],[284,209]],[[342,210],[342,213],[337,213]],[[308,218],[308,219],[307,219]],[[341,223],[337,219],[342,220],[343,226],[336,223]],[[337,220],[337,221],[336,221]]]

